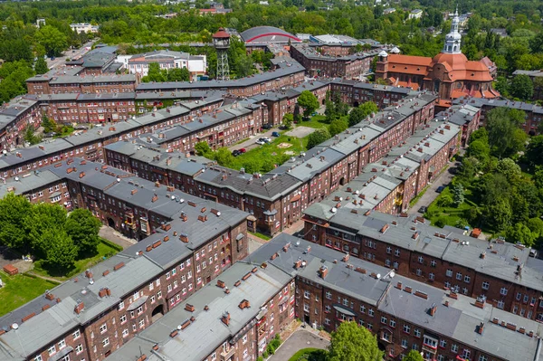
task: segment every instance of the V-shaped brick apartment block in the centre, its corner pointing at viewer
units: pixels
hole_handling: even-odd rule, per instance
[[[242,209],[252,214],[256,227],[273,234],[299,220],[310,204],[348,183],[368,163],[376,162],[406,141],[415,129],[424,128],[433,119],[433,100],[431,94],[400,100],[400,106],[386,109],[263,176],[240,175],[220,166],[190,167],[184,171],[162,164],[163,168],[157,171],[160,166],[154,159],[153,172],[142,170],[141,166],[136,169],[138,163],[123,162],[122,166],[151,181]],[[137,146],[111,145],[107,149],[111,166],[119,166],[119,158],[138,157]]]

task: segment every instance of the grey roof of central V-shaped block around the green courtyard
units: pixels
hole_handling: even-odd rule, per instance
[[[193,166],[187,170],[183,169],[183,166],[166,166],[166,168],[175,167],[176,172],[194,176],[197,181],[205,184],[273,201],[282,195],[291,194],[303,182],[309,181],[313,176],[335,165],[340,159],[356,152],[357,149],[365,147],[385,129],[395,126],[397,122],[424,108],[433,100],[435,100],[435,96],[430,93],[421,93],[413,99],[400,100],[397,107],[389,107],[383,112],[377,113],[373,118],[369,117],[369,119],[360,122],[355,127],[348,128],[345,132],[325,141],[318,147],[313,147],[300,157],[292,157],[291,160],[265,175],[254,176],[221,166]],[[198,124],[205,125],[205,123]],[[172,129],[182,127],[185,125]],[[167,137],[167,131],[165,133],[165,137]],[[160,140],[157,137],[151,138],[152,142],[149,145],[152,145],[157,139]],[[114,150],[128,157],[138,157],[139,152],[147,152],[147,150],[141,149],[140,144],[131,143],[111,144],[106,146],[106,149]],[[171,153],[171,155],[175,154]],[[206,167],[205,173],[201,173],[201,169],[204,167]]]

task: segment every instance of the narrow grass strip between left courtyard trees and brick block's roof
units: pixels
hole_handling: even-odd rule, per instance
[[[88,269],[89,267],[95,265],[96,263],[99,263],[100,261],[105,260],[106,258],[110,258],[112,255],[119,252],[120,250],[120,246],[106,240],[101,240],[101,242],[98,244],[97,254],[75,261],[74,268],[69,271],[59,273],[59,271],[51,270],[46,267],[42,261],[35,261],[33,272],[45,277],[52,277],[56,280],[68,280],[73,275]]]

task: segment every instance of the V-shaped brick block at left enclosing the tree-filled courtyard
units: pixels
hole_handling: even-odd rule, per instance
[[[81,159],[50,170],[143,239],[0,318],[3,359],[101,360],[247,255],[243,212]]]

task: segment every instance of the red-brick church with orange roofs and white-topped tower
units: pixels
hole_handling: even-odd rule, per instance
[[[394,48],[390,54],[380,52],[376,62],[376,79],[385,79],[393,86],[430,90],[440,97],[440,105],[464,96],[496,98],[492,75],[484,62],[471,62],[462,54],[458,10],[452,19],[451,32],[445,37],[443,51],[433,58],[401,55]]]

